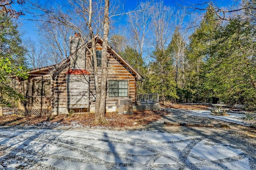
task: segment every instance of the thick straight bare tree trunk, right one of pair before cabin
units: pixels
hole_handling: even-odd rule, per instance
[[[106,109],[106,84],[108,76],[108,34],[109,34],[109,0],[105,0],[104,8],[104,22],[103,22],[103,42],[102,42],[102,77],[100,82],[100,98],[99,98],[99,109],[98,112],[95,111],[94,123],[106,123],[105,109]],[[95,107],[96,109],[96,107]]]

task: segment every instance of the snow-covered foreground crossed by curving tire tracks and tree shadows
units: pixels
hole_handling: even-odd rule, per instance
[[[250,170],[255,167],[255,160],[241,150],[200,136],[146,130],[0,128],[0,170]]]

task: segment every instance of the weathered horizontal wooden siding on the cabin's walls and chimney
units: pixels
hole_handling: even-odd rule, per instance
[[[95,105],[95,82],[94,82],[94,71],[92,69],[91,56],[88,51],[85,52],[86,48],[81,48],[82,41],[71,38],[71,49],[70,57],[67,60],[62,61],[58,67],[51,66],[43,69],[36,69],[35,73],[38,75],[46,74],[40,79],[38,77],[28,79],[27,81],[20,82],[20,89],[24,95],[32,95],[36,97],[38,94],[45,95],[42,99],[35,99],[42,101],[41,103],[50,103],[52,108],[57,111],[64,111],[65,109],[76,109],[76,108],[89,108]],[[101,43],[96,44],[97,49],[102,49]],[[79,50],[78,50],[79,49]],[[70,61],[70,63],[69,63]],[[136,75],[128,66],[129,64],[119,61],[118,57],[108,51],[108,77],[107,77],[107,96],[106,106],[117,106],[118,99],[132,99],[133,104],[136,102]],[[49,74],[50,68],[51,74]],[[67,75],[68,69],[86,69],[90,75]],[[46,71],[45,71],[46,70]],[[101,69],[98,67],[99,79],[101,79]],[[34,72],[31,72],[34,73]],[[34,73],[34,74],[35,74]],[[36,76],[36,75],[34,75]],[[45,80],[47,77],[47,80]],[[127,97],[109,97],[108,96],[108,82],[109,81],[128,81],[128,96]],[[24,85],[26,84],[26,85]],[[46,90],[47,89],[47,90]],[[47,97],[50,97],[47,98]],[[32,100],[30,100],[32,101]],[[31,103],[31,102],[30,102]],[[33,105],[33,103],[31,103]],[[34,103],[35,106],[35,103]]]

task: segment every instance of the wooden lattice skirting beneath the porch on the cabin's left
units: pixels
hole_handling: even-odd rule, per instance
[[[19,115],[23,116],[37,116],[37,117],[50,117],[52,115],[52,109],[41,109],[41,108],[33,108],[33,109],[19,109]]]

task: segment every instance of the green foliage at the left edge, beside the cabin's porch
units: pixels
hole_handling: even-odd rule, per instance
[[[11,101],[22,96],[10,77],[27,78],[24,53],[17,26],[11,18],[0,15],[0,106],[10,106]]]

